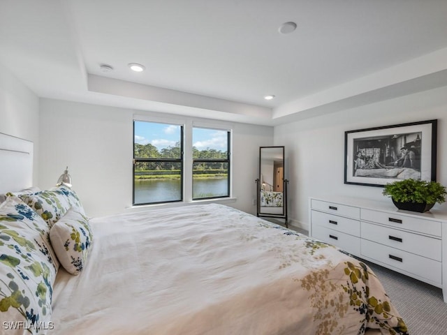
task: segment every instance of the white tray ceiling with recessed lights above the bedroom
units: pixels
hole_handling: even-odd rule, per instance
[[[275,125],[446,86],[446,17],[446,0],[2,0],[0,64],[45,98]]]

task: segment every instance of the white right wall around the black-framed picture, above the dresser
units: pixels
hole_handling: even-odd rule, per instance
[[[437,181],[447,186],[447,87],[314,117],[274,128],[274,144],[286,146],[289,216],[307,228],[308,198],[344,195],[390,201],[383,188],[344,184],[344,132],[438,119]],[[434,209],[447,210],[447,204]]]

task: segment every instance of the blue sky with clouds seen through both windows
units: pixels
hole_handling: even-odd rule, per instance
[[[135,142],[138,144],[150,143],[160,150],[174,147],[179,140],[180,126],[135,121]],[[226,151],[226,143],[226,131],[193,128],[193,146],[199,150],[210,148]]]

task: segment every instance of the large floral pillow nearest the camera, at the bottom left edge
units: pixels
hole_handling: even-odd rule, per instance
[[[19,198],[0,204],[0,319],[19,325],[8,334],[45,334],[50,325],[59,263],[47,239],[49,230]]]

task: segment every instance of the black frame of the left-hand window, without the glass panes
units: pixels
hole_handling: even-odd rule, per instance
[[[142,158],[135,157],[135,122],[147,122],[150,124],[168,124],[180,127],[180,157],[179,158]],[[132,206],[144,206],[150,204],[168,204],[172,202],[183,202],[184,200],[184,124],[176,124],[175,122],[169,121],[149,121],[142,119],[133,119],[133,147],[132,147]],[[138,202],[135,203],[135,165],[136,163],[180,163],[180,198],[179,200],[163,200],[159,202]]]

